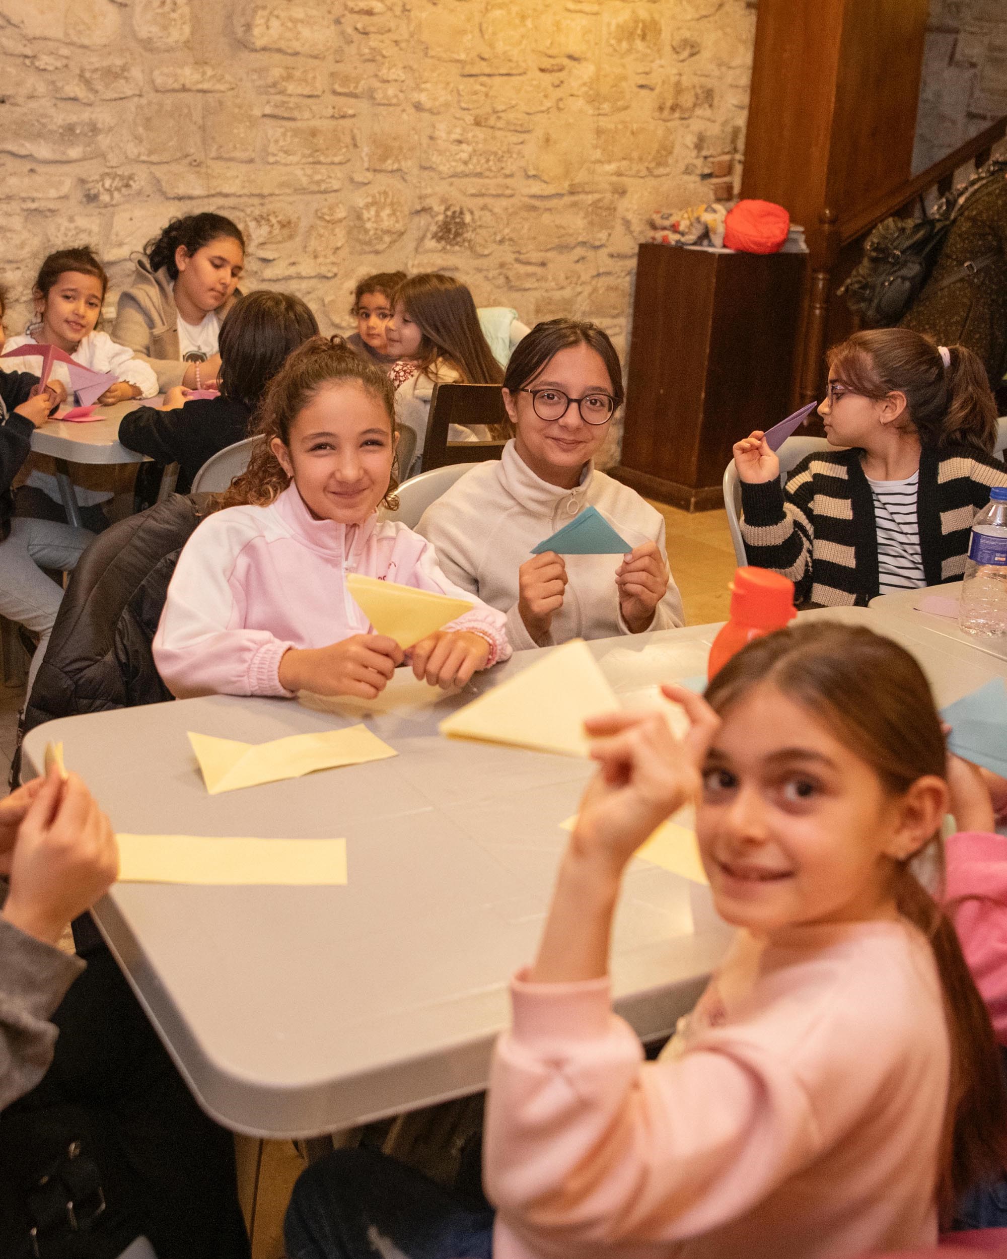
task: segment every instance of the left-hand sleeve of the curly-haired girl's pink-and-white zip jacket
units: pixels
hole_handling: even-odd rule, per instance
[[[240,589],[229,578],[245,539],[224,514],[185,544],[154,637],[154,663],[176,699],[282,695],[279,661],[293,643],[243,628]]]

